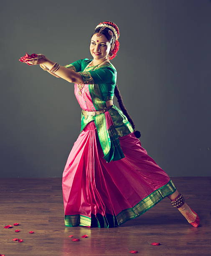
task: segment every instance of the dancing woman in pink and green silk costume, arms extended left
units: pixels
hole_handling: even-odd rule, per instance
[[[112,60],[119,49],[119,28],[99,23],[91,36],[93,59],[62,67],[43,54],[28,59],[43,70],[74,83],[81,106],[81,131],[62,177],[64,224],[112,228],[137,218],[168,197],[188,223],[200,220],[168,174],[142,148],[140,132],[122,102]],[[113,104],[117,97],[119,108]]]

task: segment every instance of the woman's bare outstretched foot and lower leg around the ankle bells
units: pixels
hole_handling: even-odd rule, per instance
[[[178,198],[179,192],[176,190],[173,194],[169,195],[168,198],[173,201]],[[177,207],[181,214],[188,220],[188,223],[193,225],[193,227],[198,227],[200,220],[196,212],[194,212],[187,204],[184,204],[181,207]]]

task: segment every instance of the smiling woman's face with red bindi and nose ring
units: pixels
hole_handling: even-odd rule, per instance
[[[94,34],[90,42],[90,53],[93,59],[107,59],[110,51],[110,42],[105,35],[101,34],[102,37],[97,37],[97,33]],[[97,54],[94,54],[97,53]]]

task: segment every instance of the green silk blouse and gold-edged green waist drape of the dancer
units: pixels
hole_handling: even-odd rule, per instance
[[[89,93],[92,98],[94,108],[96,110],[102,110],[103,108],[106,108],[106,102],[112,100],[114,97],[117,71],[111,63],[105,63],[96,69],[94,69],[96,66],[87,68],[91,61],[92,60],[90,59],[80,59],[64,67],[73,69],[75,72],[79,72],[81,74],[84,84],[89,84]],[[104,159],[107,162],[110,162],[112,160],[115,161],[125,157],[121,150],[118,137],[130,134],[134,130],[130,122],[127,120],[127,117],[124,115],[122,110],[117,108],[117,106],[113,105],[108,112],[113,121],[113,125],[108,130],[106,128],[106,118],[104,113],[95,116],[88,116],[85,119],[81,112],[80,132],[83,131],[89,122],[94,120],[99,141],[104,152]]]

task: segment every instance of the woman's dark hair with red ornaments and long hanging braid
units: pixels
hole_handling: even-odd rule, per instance
[[[107,23],[107,24],[109,24],[109,25],[111,25],[111,26],[114,26],[114,27],[116,26],[116,24],[112,23],[111,21],[105,21],[104,23]],[[117,27],[117,26],[116,26],[116,27]],[[95,33],[99,33],[99,31],[100,31],[101,28],[102,28],[102,27],[96,28],[96,29],[94,30],[94,32],[92,33],[92,36],[93,36]],[[108,27],[105,27],[105,28],[101,31],[101,33],[102,33],[104,36],[106,36],[106,38],[107,38],[107,40],[109,41],[110,45],[115,44],[115,45],[114,45],[114,49],[112,50],[112,56],[109,56],[109,60],[110,60],[110,59],[114,59],[114,58],[116,57],[116,55],[117,55],[117,51],[119,50],[119,41],[118,41],[118,40],[115,41],[114,35],[112,36],[113,31],[112,31],[112,33],[110,33],[109,31],[112,31],[112,30],[111,30],[110,28],[108,28]],[[91,36],[91,38],[92,38],[92,36]],[[123,103],[122,96],[121,96],[121,94],[120,94],[120,92],[119,92],[119,88],[118,88],[117,84],[116,84],[115,89],[114,89],[114,94],[115,94],[115,96],[117,97],[117,101],[118,101],[118,103],[119,103],[119,108],[122,110],[122,112],[124,113],[124,115],[127,117],[127,120],[131,123],[132,128],[134,129],[134,134],[135,134],[136,138],[140,138],[141,133],[140,133],[140,131],[135,131],[135,124],[133,123],[132,118],[131,118],[130,115],[128,114],[127,109],[125,108],[125,105],[124,105],[124,103]]]

